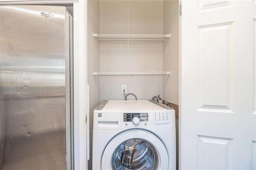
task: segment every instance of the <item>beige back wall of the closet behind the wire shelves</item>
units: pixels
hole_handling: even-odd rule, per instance
[[[129,34],[162,34],[163,1],[100,1],[100,33],[128,34],[128,30]],[[162,71],[162,55],[162,44],[100,44],[100,71]],[[162,75],[101,76],[100,101],[124,100],[122,84],[138,100],[162,96]]]

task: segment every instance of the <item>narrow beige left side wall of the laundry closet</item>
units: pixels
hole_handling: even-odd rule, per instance
[[[100,31],[100,1],[88,0],[88,84],[90,85],[90,160],[88,169],[92,169],[92,129],[93,111],[100,101],[100,79],[92,71],[100,69],[99,42],[92,37],[92,32]]]

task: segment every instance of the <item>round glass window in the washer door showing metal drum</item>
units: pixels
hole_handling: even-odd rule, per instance
[[[149,141],[132,138],[116,148],[111,162],[113,170],[156,170],[158,154]]]

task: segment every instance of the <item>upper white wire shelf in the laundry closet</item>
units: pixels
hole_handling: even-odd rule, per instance
[[[130,43],[130,44],[155,44],[162,43],[170,34],[96,34],[92,36],[97,38],[100,43]]]

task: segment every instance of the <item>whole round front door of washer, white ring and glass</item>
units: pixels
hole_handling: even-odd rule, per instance
[[[107,144],[101,160],[102,170],[167,170],[168,153],[152,132],[131,129],[116,135]]]

